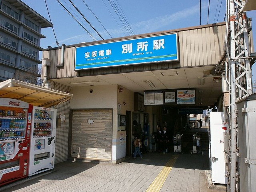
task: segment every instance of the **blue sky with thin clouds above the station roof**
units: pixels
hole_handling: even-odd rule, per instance
[[[45,0],[22,0],[44,18],[50,21],[45,5]],[[74,9],[69,0],[59,0],[70,13],[78,18],[78,21],[96,40],[102,40],[100,36],[87,24],[82,16]],[[200,25],[199,0],[112,0],[120,9],[132,28],[134,34],[159,32],[177,28],[186,28]],[[94,39],[78,24],[70,14],[58,3],[57,0],[46,0],[51,21],[54,24],[56,38],[61,46],[77,44],[80,42],[91,42]],[[109,0],[72,0],[86,19],[94,26],[104,39],[129,36],[123,24],[114,12]],[[90,12],[90,10],[97,16]],[[201,24],[207,24],[208,0],[201,0]],[[220,4],[222,3],[222,6]],[[210,0],[208,23],[223,22],[226,12],[226,1]],[[254,34],[254,52],[256,50],[256,11],[247,12],[252,18],[252,30]],[[217,20],[218,19],[218,20]],[[41,39],[40,46],[56,47],[56,40],[52,28],[42,29],[41,33],[46,38]],[[109,35],[109,34],[110,35]],[[41,55],[41,54],[40,54]],[[41,59],[41,56],[39,56]],[[256,64],[252,66],[253,81],[256,81]]]

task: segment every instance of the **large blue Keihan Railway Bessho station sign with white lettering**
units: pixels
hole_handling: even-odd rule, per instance
[[[75,70],[176,60],[175,33],[76,47]]]

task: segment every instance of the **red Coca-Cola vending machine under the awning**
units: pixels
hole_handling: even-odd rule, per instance
[[[0,186],[28,176],[33,106],[0,98]]]

